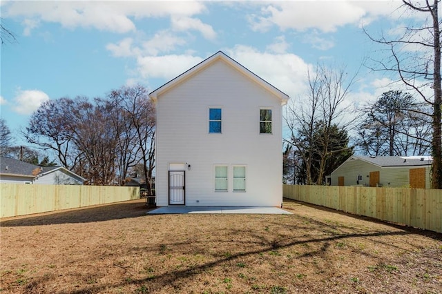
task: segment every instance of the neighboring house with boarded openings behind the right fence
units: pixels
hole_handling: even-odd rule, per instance
[[[333,171],[332,186],[430,188],[432,159],[427,156],[356,156]]]

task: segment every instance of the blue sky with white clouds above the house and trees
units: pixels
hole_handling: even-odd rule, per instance
[[[300,101],[318,62],[361,68],[378,48],[363,33],[412,21],[401,1],[1,1],[17,41],[1,47],[1,117],[18,138],[47,99],[154,90],[218,50]],[[362,67],[348,104],[390,77]]]

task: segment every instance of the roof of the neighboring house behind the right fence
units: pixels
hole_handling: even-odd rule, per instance
[[[399,166],[429,166],[432,164],[432,158],[428,156],[358,156],[353,155],[347,161],[361,159],[370,164],[380,167],[399,167]]]

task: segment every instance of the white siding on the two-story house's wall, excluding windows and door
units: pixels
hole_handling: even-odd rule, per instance
[[[222,108],[222,134],[209,134],[209,107]],[[273,134],[260,134],[260,108]],[[157,99],[157,205],[168,205],[167,170],[186,162],[187,206],[278,206],[282,202],[280,99],[218,60]],[[246,192],[214,191],[214,165],[247,166]]]

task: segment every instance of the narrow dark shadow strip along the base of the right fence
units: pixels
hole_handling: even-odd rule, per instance
[[[381,219],[376,219],[374,217],[367,217],[365,215],[354,215],[352,213],[345,213],[342,210],[336,210],[336,209],[328,208],[328,207],[325,207],[325,206],[318,206],[318,205],[310,204],[310,203],[307,203],[307,202],[300,202],[300,201],[296,201],[296,200],[293,200],[293,199],[284,198],[284,203],[287,203],[287,202],[290,202],[291,206],[307,206],[307,207],[310,207],[310,208],[315,208],[315,209],[318,209],[318,210],[323,210],[323,211],[325,211],[327,213],[336,213],[338,215],[345,215],[346,217],[352,217],[354,219],[365,220],[367,222],[374,222],[376,224],[383,224],[385,226],[390,226],[392,228],[397,228],[398,230],[404,230],[404,231],[408,231],[408,232],[413,233],[413,234],[419,234],[419,235],[423,235],[425,237],[430,237],[432,239],[436,239],[436,240],[441,240],[442,241],[442,233],[437,233],[437,232],[425,230],[425,229],[422,229],[422,228],[414,228],[412,226],[407,226],[405,224],[396,224],[396,223],[393,223],[393,222],[387,222],[387,221],[383,221]],[[294,204],[296,204],[296,205],[294,205]],[[285,207],[284,209],[287,210],[287,211],[290,211],[291,213],[294,213],[294,209],[293,208],[290,208],[290,207],[286,208]]]

